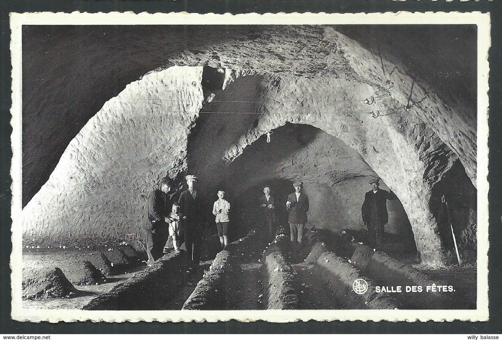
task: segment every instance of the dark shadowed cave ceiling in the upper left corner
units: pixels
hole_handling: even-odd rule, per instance
[[[48,79],[49,75],[56,78],[65,78],[68,74],[77,74],[75,72],[69,72],[69,70],[74,69],[75,65],[88,65],[89,55],[85,53],[77,53],[76,59],[68,61],[67,53],[55,53],[52,56],[51,62],[53,64],[63,65],[61,68],[47,68],[44,67],[45,54],[40,53],[40,42],[43,42],[44,46],[52,46],[55,48],[66,47],[73,51],[77,49],[86,50],[85,44],[78,43],[81,39],[75,39],[76,37],[85,37],[94,41],[97,46],[107,47],[110,43],[116,42],[115,39],[119,40],[119,44],[123,49],[131,49],[133,54],[136,54],[138,58],[142,59],[144,62],[139,63],[138,58],[124,58],[117,61],[118,54],[107,54],[106,49],[103,49],[103,54],[100,63],[108,63],[115,67],[114,65],[121,66],[122,72],[112,72],[114,81],[108,81],[106,78],[107,73],[96,73],[95,75],[85,74],[86,78],[89,79],[88,82],[79,82],[82,86],[86,84],[108,84],[106,86],[107,91],[99,92],[99,86],[94,86],[94,90],[91,91],[89,98],[92,100],[87,100],[87,97],[81,97],[78,100],[70,100],[67,98],[66,94],[71,94],[74,92],[66,91],[64,93],[54,89],[50,89],[50,93],[53,94],[52,97],[56,98],[59,104],[56,107],[60,107],[61,112],[73,112],[74,105],[79,103],[85,103],[84,109],[80,110],[79,115],[72,120],[72,128],[66,129],[65,131],[60,131],[58,134],[57,142],[48,146],[51,149],[51,153],[46,157],[38,157],[36,161],[30,161],[30,152],[27,150],[33,149],[33,145],[30,143],[23,143],[23,183],[28,183],[23,185],[23,202],[22,206],[25,207],[26,204],[33,198],[33,196],[40,190],[40,188],[47,182],[50,174],[54,171],[59,158],[63,154],[68,143],[78,134],[78,132],[84,127],[84,125],[91,119],[99,109],[110,100],[117,96],[126,86],[138,79],[141,79],[145,74],[156,69],[164,69],[172,66],[169,63],[170,59],[175,59],[176,55],[183,50],[193,50],[200,53],[201,50],[207,49],[210,46],[222,44],[228,41],[233,41],[235,36],[238,34],[242,35],[260,35],[260,32],[271,27],[273,25],[267,26],[253,26],[253,25],[214,25],[208,27],[207,25],[145,25],[139,28],[124,28],[122,25],[87,25],[87,26],[74,26],[74,25],[62,25],[57,27],[51,27],[50,25],[24,25],[22,29],[23,39],[23,65],[32,66],[23,68],[23,88],[26,92],[36,93],[40,79]],[[203,31],[206,35],[200,38],[200,32]],[[213,33],[213,34],[211,34]],[[140,53],[137,48],[134,47],[135,42],[138,37],[145,35],[150,37],[163,38],[166,36],[178,37],[177,40],[172,41],[175,46],[165,47],[166,45],[152,45],[148,53]],[[77,42],[77,43],[76,43]],[[122,50],[120,51],[122,53]],[[162,58],[159,58],[162,56]],[[152,58],[154,57],[154,58]],[[97,58],[96,58],[97,60]],[[78,68],[78,67],[77,67]],[[30,72],[32,69],[37,69],[37,76],[27,77],[26,72]],[[49,73],[51,72],[51,73]],[[104,76],[103,76],[104,75]],[[109,78],[110,76],[108,76]],[[76,91],[85,92],[85,91]],[[34,97],[37,99],[37,97]],[[37,116],[47,114],[52,112],[50,107],[47,105],[41,105],[36,100],[32,100],[32,97],[23,97],[23,140],[38,140],[33,138],[34,134],[39,134],[40,130],[47,130],[47,124],[54,124],[54,120],[48,119],[35,119]],[[42,113],[41,113],[42,112]],[[31,124],[27,124],[32,121]],[[34,122],[34,123],[33,123]],[[49,123],[52,122],[52,123]],[[42,127],[41,127],[42,126]],[[63,126],[64,127],[64,126]],[[64,130],[64,129],[63,129]],[[46,142],[50,142],[50,138],[44,139]],[[40,145],[46,145],[46,143],[41,142]],[[45,147],[44,147],[45,149]]]

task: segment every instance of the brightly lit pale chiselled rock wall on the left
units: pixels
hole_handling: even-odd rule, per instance
[[[24,238],[56,246],[127,240],[141,249],[148,193],[186,169],[201,83],[202,67],[171,67],[106,102],[23,210]]]

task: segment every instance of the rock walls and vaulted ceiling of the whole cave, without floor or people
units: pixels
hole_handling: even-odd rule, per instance
[[[101,37],[109,29],[92,28],[88,37]],[[23,126],[27,141],[23,145],[26,239],[53,245],[58,238],[67,238],[70,243],[96,239],[105,242],[136,235],[139,227],[147,223],[144,212],[148,191],[166,173],[175,179],[178,192],[183,188],[184,176],[196,174],[207,207],[216,199],[217,190],[225,190],[234,207],[233,239],[259,224],[256,200],[264,185],[271,185],[274,195],[284,202],[296,180],[304,182],[303,190],[310,198],[308,228],[328,231],[333,237],[343,231],[364,236],[360,217],[364,193],[370,189],[368,180],[381,178],[381,188],[393,190],[398,197],[387,204],[389,253],[441,266],[445,261],[455,261],[455,236],[465,263],[475,264],[475,147],[468,144],[474,140],[472,131],[475,135],[474,111],[469,110],[475,101],[475,91],[470,91],[469,86],[475,78],[468,71],[475,64],[475,53],[466,51],[458,56],[453,45],[459,43],[455,37],[473,39],[475,30],[470,26],[441,27],[442,35],[429,41],[424,37],[438,27],[427,28],[429,33],[421,33],[421,29],[407,27],[398,38],[415,35],[417,41],[428,41],[429,45],[416,47],[417,56],[417,49],[432,51],[434,46],[442,46],[432,69],[458,66],[461,75],[470,74],[465,82],[450,77],[441,79],[436,88],[424,85],[437,80],[431,78],[434,72],[427,72],[430,65],[397,46],[385,27],[239,28],[221,37],[206,34],[212,37],[210,45],[203,38],[194,38],[190,41],[193,46],[181,43],[181,38],[187,38],[186,30],[169,28],[166,32],[179,39],[173,38],[171,45],[150,44],[148,51],[142,50],[146,53],[143,63],[136,63],[134,68],[127,64],[134,58],[122,58],[120,62],[106,59],[104,66],[113,65],[110,67],[129,73],[124,79],[109,82],[113,90],[105,90],[106,82],[92,80],[105,73],[89,72],[88,68],[96,66],[99,58],[105,60],[104,54],[109,51],[106,48],[117,50],[116,42],[109,39],[136,34],[119,34],[112,28],[116,36],[106,34],[102,43],[89,46],[95,56],[87,58],[86,63],[76,54],[70,59],[56,55],[61,59],[57,70],[82,65],[78,71],[85,76],[67,72],[68,77],[75,77],[72,82],[81,84],[81,79],[89,79],[89,84],[84,84],[88,89],[75,91],[82,93],[82,98],[77,98],[79,105],[88,107],[92,103],[87,111],[101,102],[104,106],[97,114],[64,106],[64,114],[51,120],[44,118],[53,112],[49,98],[71,95],[71,91],[50,92],[60,91],[58,86],[43,93],[36,91],[40,82],[51,79],[44,72],[54,72],[54,77],[60,71],[54,71],[57,63],[49,63],[47,69],[40,67],[46,64],[47,56],[35,42],[56,47],[60,44],[61,51],[72,46],[80,51],[84,46],[79,40],[83,29],[73,32],[73,28],[65,28],[63,36],[58,36],[58,32],[46,28],[25,28],[25,36],[38,37],[23,42],[27,51],[24,69],[33,74],[23,78],[26,92],[33,93],[23,98],[27,113]],[[146,36],[153,37],[148,39],[163,36],[158,28],[144,30],[149,33]],[[199,32],[201,28],[193,30]],[[219,27],[208,30],[222,32]],[[297,40],[290,37],[292,31],[298,31],[308,48],[299,48]],[[371,44],[372,35],[386,38],[382,40],[384,53]],[[280,37],[288,43],[282,43]],[[442,44],[445,37],[451,42],[448,46]],[[235,51],[235,42],[249,51]],[[277,59],[271,48],[277,48],[281,58]],[[128,46],[117,51],[135,51],[140,58],[139,50]],[[223,62],[222,56],[230,50],[237,56]],[[169,63],[159,61],[160,55],[168,53],[165,51],[170,53]],[[254,55],[263,61],[252,58]],[[324,62],[319,55],[325,57]],[[106,56],[120,58],[118,54]],[[399,58],[404,65],[399,64]],[[374,84],[383,80],[381,68],[389,78],[384,80],[389,86],[387,92]],[[35,69],[40,69],[40,75],[33,72]],[[417,72],[425,76],[417,78]],[[131,83],[138,79],[138,73],[144,76]],[[363,78],[364,73],[369,78]],[[38,76],[45,78],[38,81]],[[128,84],[125,89],[124,82]],[[409,94],[410,88],[418,92],[415,99]],[[445,90],[448,88],[462,98],[451,99]],[[433,90],[439,95],[430,95]],[[379,91],[383,94],[373,102],[371,98]],[[174,99],[156,102],[155,98],[166,93],[173,94],[170,98]],[[99,100],[87,97],[98,95]],[[81,102],[84,99],[85,105]],[[389,109],[403,106],[407,99],[406,108]],[[467,113],[444,113],[441,110],[445,106],[438,104],[443,99],[453,103],[465,100]],[[368,105],[374,108],[370,110]],[[75,112],[83,113],[77,119]],[[42,128],[48,133],[40,133],[37,124],[45,124]],[[58,163],[56,158],[61,154]],[[42,167],[44,171],[39,170]],[[115,199],[110,198],[113,195]],[[448,208],[442,202],[443,196]],[[278,216],[279,223],[286,224],[282,208]],[[209,215],[208,221],[211,219]],[[141,250],[140,237],[132,238],[130,242]]]

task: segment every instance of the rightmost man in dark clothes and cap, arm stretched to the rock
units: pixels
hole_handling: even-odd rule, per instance
[[[368,182],[372,190],[364,196],[362,204],[362,222],[368,228],[369,242],[375,248],[380,248],[384,244],[385,225],[389,222],[387,213],[387,200],[394,200],[396,195],[391,191],[380,189],[380,179],[371,179]]]

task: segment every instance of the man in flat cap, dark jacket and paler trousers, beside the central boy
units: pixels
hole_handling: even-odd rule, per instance
[[[302,181],[293,183],[295,192],[288,196],[286,210],[289,212],[288,223],[291,232],[291,245],[296,250],[302,245],[303,229],[307,222],[307,212],[309,211],[309,198],[301,192],[303,188]]]

